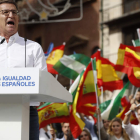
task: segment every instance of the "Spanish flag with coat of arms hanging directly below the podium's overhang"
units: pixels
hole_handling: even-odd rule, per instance
[[[38,109],[39,129],[50,123],[69,122],[69,109],[66,103],[51,103]]]

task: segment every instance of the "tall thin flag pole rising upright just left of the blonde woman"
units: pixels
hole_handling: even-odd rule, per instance
[[[92,70],[93,70],[93,77],[94,77],[94,83],[95,83],[95,93],[96,93],[96,101],[97,101],[97,108],[99,108],[99,102],[98,102],[98,87],[97,87],[97,71],[96,71],[96,58],[91,58],[91,64],[92,64]],[[100,136],[100,119],[98,115],[98,132],[99,132],[99,140],[101,140]]]

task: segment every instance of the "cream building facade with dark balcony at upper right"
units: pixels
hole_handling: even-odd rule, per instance
[[[138,39],[136,30],[140,28],[140,1],[101,0],[100,11],[100,44],[103,56],[116,64],[120,44],[133,46],[132,40]],[[126,75],[123,81],[124,84],[128,81]],[[128,94],[132,91],[131,84],[129,89]],[[111,98],[112,94],[107,94],[106,97]]]

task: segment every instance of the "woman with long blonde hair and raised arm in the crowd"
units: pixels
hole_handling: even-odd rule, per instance
[[[130,140],[128,134],[122,127],[122,120],[120,118],[114,118],[109,123],[109,128],[106,132],[103,127],[99,108],[97,109],[96,113],[99,115],[100,118],[100,135],[102,140]]]

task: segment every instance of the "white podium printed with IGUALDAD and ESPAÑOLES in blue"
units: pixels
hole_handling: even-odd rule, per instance
[[[0,69],[0,140],[29,140],[30,102],[71,102],[72,95],[37,68]]]

